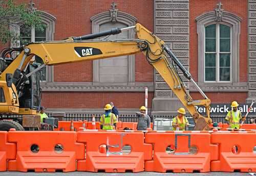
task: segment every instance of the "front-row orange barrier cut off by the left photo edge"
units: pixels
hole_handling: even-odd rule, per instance
[[[16,144],[7,142],[7,132],[0,132],[0,171],[7,170],[7,160],[15,159]]]

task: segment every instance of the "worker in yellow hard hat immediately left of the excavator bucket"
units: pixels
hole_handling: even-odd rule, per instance
[[[178,115],[173,119],[172,126],[173,126],[173,131],[185,131],[186,126],[188,126],[188,120],[184,116],[186,114],[184,108],[179,108],[178,109]]]

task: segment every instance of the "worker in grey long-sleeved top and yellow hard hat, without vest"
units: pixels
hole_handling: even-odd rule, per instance
[[[147,130],[150,129],[150,116],[146,114],[146,107],[140,107],[140,112],[136,112],[138,117],[137,130]]]

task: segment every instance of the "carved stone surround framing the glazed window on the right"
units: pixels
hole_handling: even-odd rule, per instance
[[[240,22],[242,18],[232,13],[223,12],[222,23],[228,24],[232,27],[232,35],[230,36],[230,41],[232,39],[232,43],[230,45],[230,51],[232,57],[232,82],[214,82],[214,86],[221,86],[222,84],[229,84],[230,86],[233,83],[239,82],[239,50],[240,50]],[[198,34],[198,84],[206,86],[207,84],[211,84],[212,82],[205,82],[205,73],[204,73],[204,65],[205,65],[205,26],[209,23],[216,23],[216,13],[215,11],[208,12],[202,14],[196,18],[197,21],[197,34]],[[230,63],[231,64],[231,63]],[[230,79],[231,80],[231,79]]]

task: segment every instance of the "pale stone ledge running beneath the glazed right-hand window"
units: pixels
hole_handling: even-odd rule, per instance
[[[203,83],[198,82],[198,86],[204,92],[247,92],[248,84],[247,82],[237,82],[237,83]],[[189,83],[189,91],[197,91],[193,83]]]

